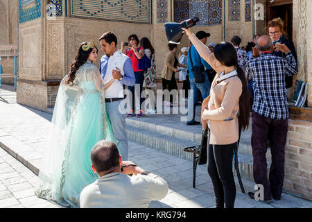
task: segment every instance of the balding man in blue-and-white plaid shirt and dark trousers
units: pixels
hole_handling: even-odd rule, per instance
[[[288,103],[285,76],[297,74],[297,65],[285,44],[272,44],[267,35],[259,37],[257,48],[261,55],[250,60],[246,76],[253,80],[252,155],[254,182],[263,185],[264,200],[281,199],[284,182],[284,155],[288,131]],[[272,56],[272,51],[286,53],[286,58]],[[267,176],[267,139],[270,142],[272,164]],[[254,197],[250,193],[250,197]]]

